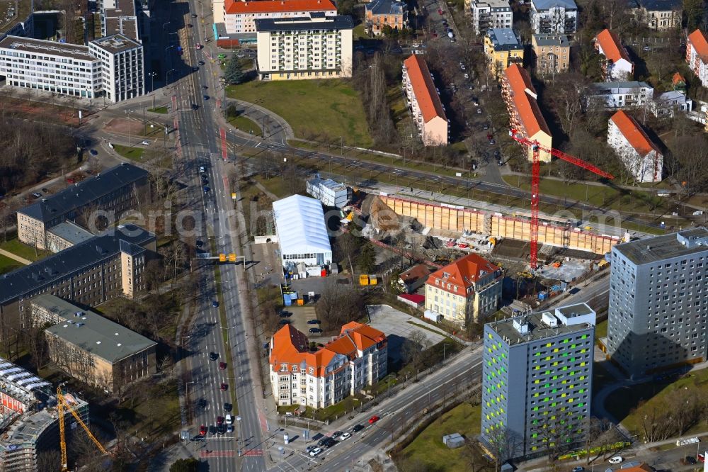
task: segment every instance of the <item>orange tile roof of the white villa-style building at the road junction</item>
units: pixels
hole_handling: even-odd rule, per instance
[[[338,354],[355,359],[357,351],[363,351],[379,342],[384,342],[383,332],[369,325],[350,322],[342,327],[341,337],[326,344],[317,352],[309,352],[307,336],[292,327],[285,325],[273,335],[270,351],[270,364],[278,369],[280,364],[302,365],[315,369],[316,376],[323,376],[326,367]]]

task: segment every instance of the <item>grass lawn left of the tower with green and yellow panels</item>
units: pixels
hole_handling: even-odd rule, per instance
[[[423,429],[403,450],[402,456],[409,463],[426,463],[435,471],[466,471],[468,461],[463,454],[467,448],[447,449],[442,437],[457,432],[473,439],[479,434],[480,422],[481,406],[462,403]]]

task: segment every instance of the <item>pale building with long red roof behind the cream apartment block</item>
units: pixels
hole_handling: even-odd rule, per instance
[[[224,23],[229,34],[256,38],[258,19],[301,18],[309,13],[336,16],[337,7],[330,0],[224,1]]]

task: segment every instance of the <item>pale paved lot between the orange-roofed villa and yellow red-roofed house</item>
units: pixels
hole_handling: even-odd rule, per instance
[[[411,322],[415,322],[418,325],[425,325],[426,322],[396,310],[389,305],[367,305],[367,310],[371,317],[370,325],[382,331],[384,335],[387,336],[389,358],[391,358],[394,363],[401,359],[401,347],[404,341],[411,337],[414,332],[423,333],[432,344],[438,344],[438,342],[445,339],[444,331],[440,330],[440,334],[435,334],[435,332],[430,331],[437,330],[435,327],[431,326],[430,330],[427,330],[413,325]]]

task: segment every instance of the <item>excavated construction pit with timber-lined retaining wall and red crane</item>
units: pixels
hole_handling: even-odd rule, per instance
[[[441,267],[475,253],[505,270],[506,297],[544,300],[603,269],[619,237],[567,221],[539,220],[532,268],[530,218],[387,194],[363,197],[358,215],[364,235],[411,261]]]

